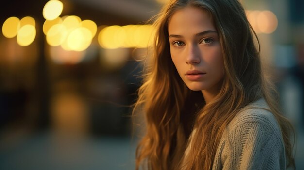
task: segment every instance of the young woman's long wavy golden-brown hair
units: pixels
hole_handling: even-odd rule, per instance
[[[225,75],[220,92],[208,104],[201,91],[187,88],[170,56],[169,19],[188,6],[207,11],[220,37]],[[295,167],[290,139],[293,128],[281,115],[274,85],[262,72],[257,35],[241,4],[237,0],[170,0],[154,26],[153,56],[145,65],[133,110],[134,115],[145,115],[145,135],[137,146],[136,170],[180,169],[193,129],[200,135],[191,137],[191,150],[183,168],[211,169],[225,127],[240,109],[260,98],[265,99],[278,120],[288,166]]]

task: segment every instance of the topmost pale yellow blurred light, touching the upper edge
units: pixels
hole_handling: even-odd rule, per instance
[[[48,1],[43,8],[42,14],[46,20],[56,19],[63,10],[63,4],[59,0]]]

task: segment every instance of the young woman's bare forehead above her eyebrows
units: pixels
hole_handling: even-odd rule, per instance
[[[177,10],[168,23],[169,34],[196,34],[206,30],[216,31],[212,17],[207,11],[196,7]]]

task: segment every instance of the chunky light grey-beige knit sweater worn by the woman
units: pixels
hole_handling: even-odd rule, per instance
[[[212,170],[286,169],[280,126],[274,115],[263,108],[269,109],[264,99],[253,102],[228,124],[220,139]]]

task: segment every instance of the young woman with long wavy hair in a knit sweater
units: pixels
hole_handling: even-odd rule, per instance
[[[155,27],[134,108],[146,121],[136,169],[294,167],[292,126],[264,77],[241,4],[170,0]]]

